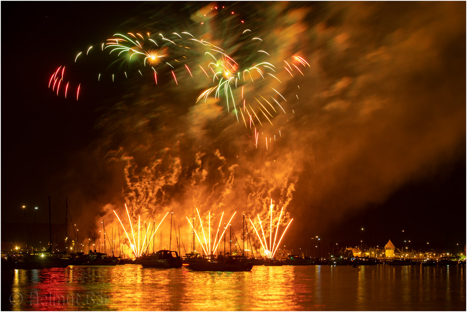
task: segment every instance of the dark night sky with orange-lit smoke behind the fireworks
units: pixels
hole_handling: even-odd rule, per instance
[[[284,237],[294,248],[317,235],[360,241],[362,227],[375,245],[398,247],[402,230],[414,246],[443,247],[446,230],[465,245],[465,2],[229,2],[212,15],[222,5],[2,2],[1,223],[22,223],[22,205],[48,222],[50,195],[52,223],[64,222],[68,198],[87,237],[102,218],[117,226],[112,210],[124,203],[148,220],[174,211],[185,232],[195,207],[237,211],[241,231],[241,214],[267,219],[272,198],[294,219]],[[73,63],[117,32],[189,31],[248,66],[259,57],[235,35],[247,28],[282,72],[291,55],[310,64],[283,76],[287,114],[258,128],[283,133],[268,150],[223,98],[195,103],[212,87],[204,73],[190,80],[177,68],[177,85],[161,67],[157,86],[151,76],[98,85],[112,60]],[[205,57],[190,56],[194,66]],[[82,79],[79,101],[47,88],[64,64]]]

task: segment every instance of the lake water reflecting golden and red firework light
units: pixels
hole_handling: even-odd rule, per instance
[[[460,266],[139,265],[1,271],[1,310],[466,310]]]

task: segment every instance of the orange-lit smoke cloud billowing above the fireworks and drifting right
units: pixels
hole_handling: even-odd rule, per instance
[[[238,43],[244,40],[236,23],[244,20],[241,29],[255,32],[269,62],[281,69],[277,91],[287,99],[281,102],[286,113],[274,114],[274,126],[256,125],[256,145],[254,127],[245,127],[241,118],[237,122],[222,96],[196,103],[212,86],[204,73],[181,78],[184,87],[129,86],[98,128],[100,157],[123,167],[115,196],[123,197],[133,220],[141,215],[158,223],[173,212],[182,238],[190,239],[185,216],[191,220],[197,209],[204,225],[211,211],[216,229],[223,211],[222,223],[236,211],[232,225],[238,231],[242,214],[255,224],[257,215],[269,220],[272,200],[273,223],[282,207],[285,211],[279,232],[294,218],[284,238],[291,241],[311,229],[324,231],[367,203],[383,202],[404,183],[459,157],[466,139],[465,3],[274,2],[250,3],[248,12],[241,4],[227,8],[237,15],[214,12],[212,6],[186,8],[190,18],[179,23],[152,11],[128,24],[192,31],[241,59],[245,68],[259,57],[251,50],[256,45]],[[283,70],[292,55],[309,63],[300,67],[304,75]],[[246,96],[273,96],[268,81],[245,83]],[[113,209],[120,218],[126,211],[122,205],[103,209],[117,227]],[[264,225],[269,232],[268,222]],[[163,226],[168,232],[169,222]]]

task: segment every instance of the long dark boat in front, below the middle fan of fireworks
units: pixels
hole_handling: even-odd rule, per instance
[[[224,262],[198,257],[198,261],[189,263],[188,268],[193,271],[240,272],[251,271],[253,263],[241,261],[236,256],[229,256]]]

